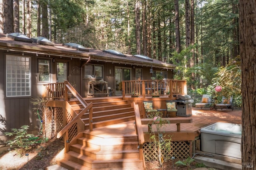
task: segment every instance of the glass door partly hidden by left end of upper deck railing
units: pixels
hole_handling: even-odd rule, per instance
[[[116,80],[116,93],[115,95],[122,95],[122,81],[131,80],[130,68],[115,68],[115,80]]]

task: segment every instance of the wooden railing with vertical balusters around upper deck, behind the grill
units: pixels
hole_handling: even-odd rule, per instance
[[[185,80],[132,80],[122,81],[123,96],[163,96],[186,94],[187,84]]]

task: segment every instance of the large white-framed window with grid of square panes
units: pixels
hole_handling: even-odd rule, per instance
[[[6,55],[6,97],[20,96],[31,96],[31,59]]]

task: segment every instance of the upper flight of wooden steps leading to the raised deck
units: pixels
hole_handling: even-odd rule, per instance
[[[85,101],[93,103],[93,128],[134,120],[133,107],[121,97],[86,98]],[[76,113],[84,109],[77,101],[69,101],[69,104]],[[81,119],[85,129],[89,129],[89,113],[85,113]]]

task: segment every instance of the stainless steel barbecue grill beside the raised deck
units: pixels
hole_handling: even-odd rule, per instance
[[[190,95],[177,95],[175,102],[177,103],[177,116],[189,117],[192,116],[192,103]]]

